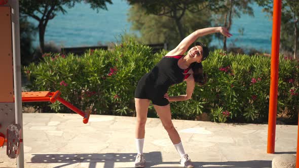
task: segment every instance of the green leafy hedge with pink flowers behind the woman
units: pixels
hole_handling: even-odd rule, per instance
[[[113,51],[90,50],[84,56],[45,54],[38,64],[23,67],[30,91],[60,90],[61,97],[94,114],[135,115],[134,90],[143,74],[167,51],[152,54],[151,48],[127,40]],[[267,121],[270,89],[270,58],[227,54],[216,50],[203,62],[209,80],[196,87],[193,99],[171,102],[173,118],[196,119],[202,112],[217,122]],[[278,113],[290,119],[298,112],[297,61],[280,58]],[[169,96],[185,94],[185,82],[169,89]],[[60,103],[34,103],[44,111],[70,112]],[[154,108],[149,108],[149,115]],[[156,116],[156,114],[154,114]]]

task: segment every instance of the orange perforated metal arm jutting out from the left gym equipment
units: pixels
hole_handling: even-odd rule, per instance
[[[90,111],[87,111],[84,113],[77,107],[73,106],[69,102],[65,101],[60,97],[61,92],[56,91],[56,92],[48,92],[48,91],[43,91],[43,92],[22,92],[22,102],[51,102],[54,103],[56,101],[59,101],[72,111],[78,113],[79,115],[83,116],[83,123],[88,123],[89,116],[90,116]]]

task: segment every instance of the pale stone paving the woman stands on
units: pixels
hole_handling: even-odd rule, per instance
[[[24,113],[25,167],[133,167],[135,117]],[[282,154],[296,155],[297,125],[277,125],[275,154],[267,154],[267,124],[173,120],[195,167],[271,167]],[[146,167],[180,167],[179,155],[159,118],[145,128]],[[0,148],[0,167],[16,167]]]

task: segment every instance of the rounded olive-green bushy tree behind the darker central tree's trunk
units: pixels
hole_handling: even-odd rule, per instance
[[[171,49],[181,41],[181,36],[178,35],[179,31],[175,28],[176,23],[172,18],[147,14],[140,4],[131,6],[128,20],[132,22],[131,29],[140,32],[140,41],[142,43],[167,43],[168,48]],[[185,36],[196,29],[210,26],[211,14],[208,10],[202,10],[199,13],[186,11],[180,22]],[[205,44],[209,44],[212,36],[204,36],[200,40]]]

